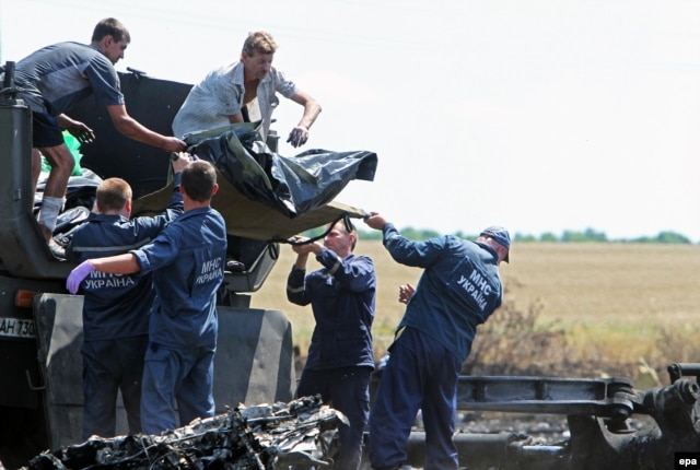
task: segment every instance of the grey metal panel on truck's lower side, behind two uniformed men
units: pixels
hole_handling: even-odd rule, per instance
[[[34,304],[50,449],[82,440],[82,303],[80,295],[44,294]],[[290,401],[295,387],[292,330],[282,313],[219,306],[218,314],[217,412],[238,403]],[[118,403],[117,434],[127,432]]]

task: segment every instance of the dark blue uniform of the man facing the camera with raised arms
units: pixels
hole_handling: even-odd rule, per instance
[[[320,395],[348,418],[350,426],[339,430],[340,455],[335,468],[354,470],[362,456],[374,369],[374,262],[352,254],[340,258],[325,247],[316,259],[324,268],[308,275],[292,268],[287,283],[287,298],[298,305],[311,303],[316,320],[296,396]]]

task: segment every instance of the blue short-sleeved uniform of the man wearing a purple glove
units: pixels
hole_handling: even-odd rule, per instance
[[[226,228],[210,207],[177,218],[150,244],[131,250],[153,273],[155,301],[143,371],[141,424],[159,434],[214,414],[217,292],[223,282]]]

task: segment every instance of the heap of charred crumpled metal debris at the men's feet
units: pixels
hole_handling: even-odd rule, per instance
[[[240,406],[160,435],[93,436],[34,457],[28,469],[267,470],[328,467],[337,425],[347,419],[320,397],[289,403]],[[25,467],[26,469],[26,467]]]

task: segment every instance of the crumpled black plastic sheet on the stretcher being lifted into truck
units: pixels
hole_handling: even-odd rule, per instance
[[[243,122],[188,134],[187,151],[214,164],[246,198],[290,219],[330,202],[352,179],[374,179],[374,152],[314,149],[288,157],[272,152],[257,128]]]

